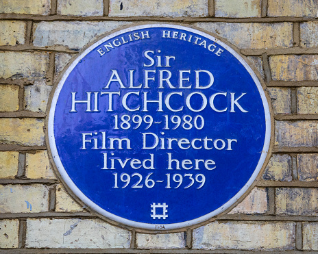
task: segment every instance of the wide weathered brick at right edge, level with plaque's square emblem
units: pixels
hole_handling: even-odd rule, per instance
[[[317,216],[317,188],[277,188],[276,214]]]

